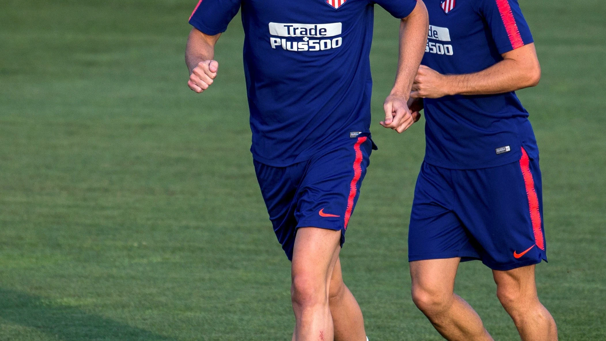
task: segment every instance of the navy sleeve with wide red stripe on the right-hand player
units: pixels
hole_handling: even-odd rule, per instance
[[[518,0],[481,0],[479,12],[486,19],[499,53],[533,42]]]

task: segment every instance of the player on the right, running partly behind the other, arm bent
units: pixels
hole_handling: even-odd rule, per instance
[[[492,340],[453,293],[459,263],[480,259],[522,340],[557,340],[534,282],[547,260],[539,151],[514,93],[541,78],[528,24],[517,0],[425,3],[429,39],[410,103],[427,118],[408,234],[413,300],[445,339]]]

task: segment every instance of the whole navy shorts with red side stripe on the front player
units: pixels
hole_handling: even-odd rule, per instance
[[[273,230],[289,260],[299,227],[340,230],[343,246],[373,148],[370,137],[360,136],[288,167],[255,161]]]

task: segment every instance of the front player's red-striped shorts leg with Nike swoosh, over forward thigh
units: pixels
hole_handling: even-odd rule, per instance
[[[369,137],[358,137],[312,157],[296,195],[297,228],[341,231],[342,245],[370,164],[371,148]]]

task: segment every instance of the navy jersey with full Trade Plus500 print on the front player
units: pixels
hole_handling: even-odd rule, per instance
[[[405,18],[416,0],[203,0],[190,24],[227,29],[242,8],[256,161],[283,167],[369,133],[373,6]]]

